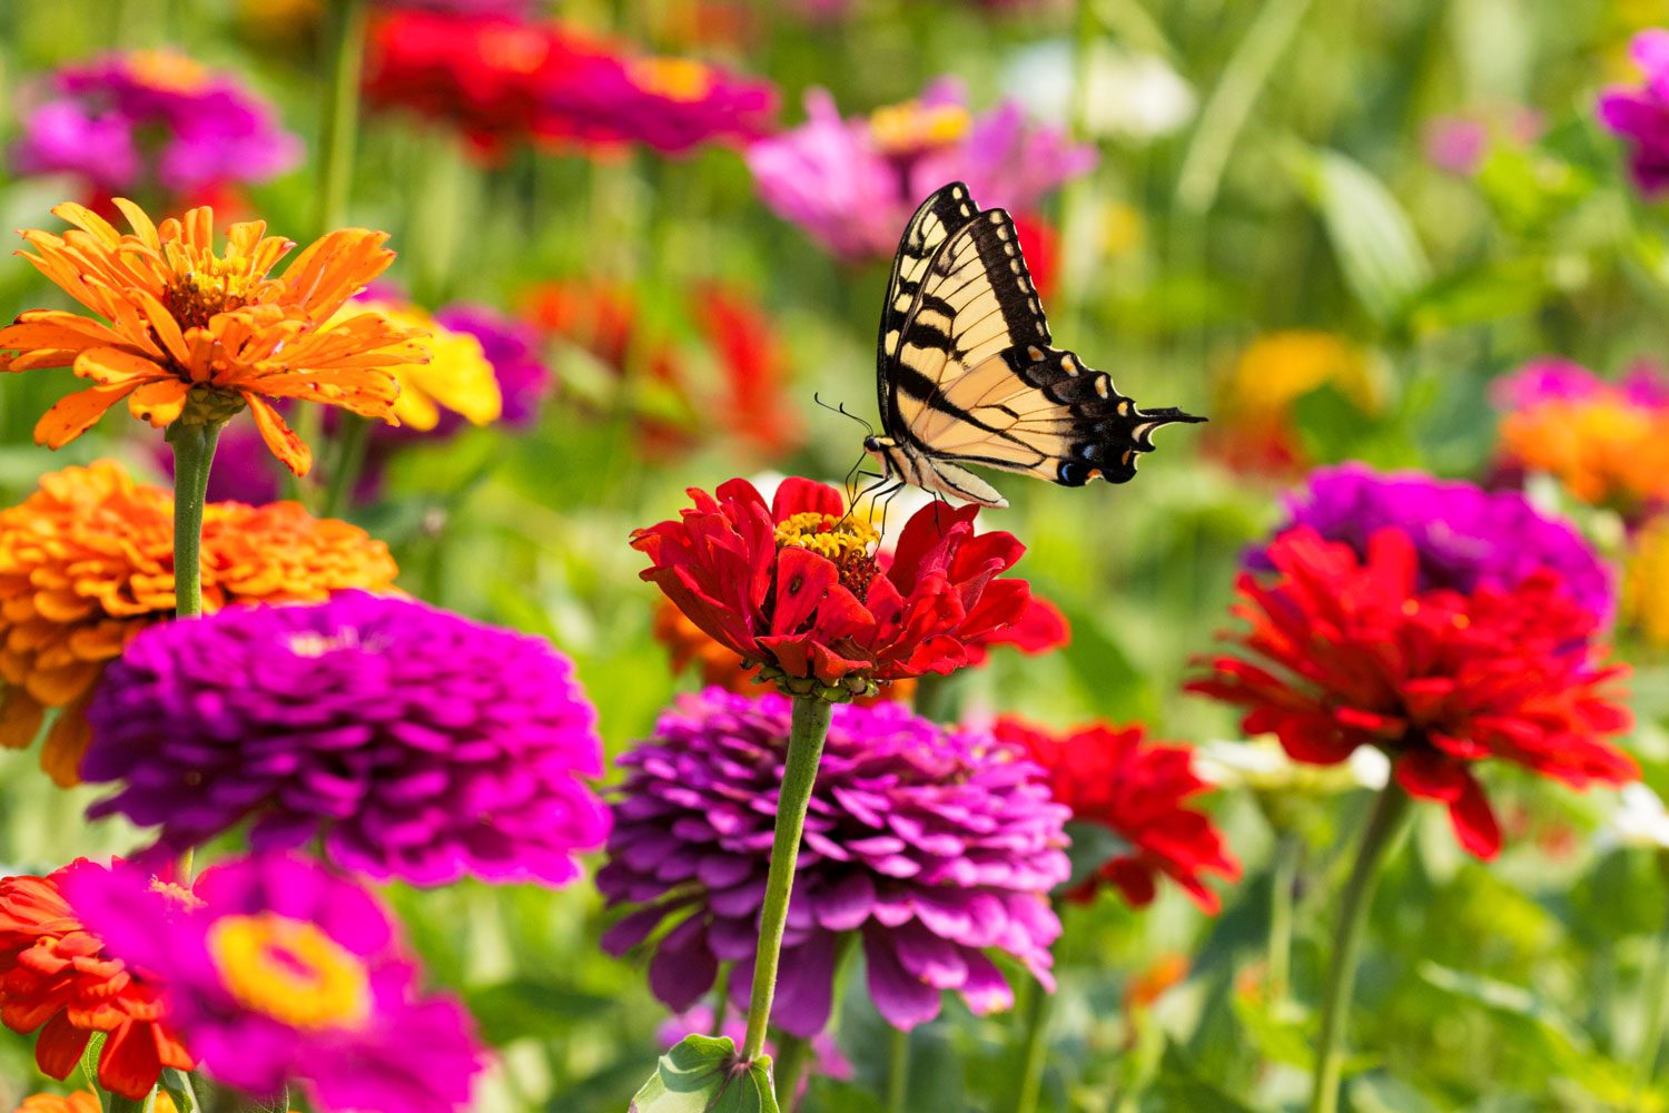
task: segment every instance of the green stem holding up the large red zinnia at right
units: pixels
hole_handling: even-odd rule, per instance
[[[1350,995],[1355,988],[1357,961],[1362,956],[1362,929],[1374,896],[1374,883],[1387,853],[1402,834],[1409,816],[1409,794],[1395,779],[1389,781],[1374,801],[1374,811],[1362,831],[1355,864],[1339,906],[1339,924],[1334,929],[1334,954],[1327,968],[1322,998],[1322,1041],[1315,1050],[1315,1090],[1310,1095],[1310,1113],[1337,1113],[1339,1081],[1344,1076],[1344,1033],[1350,1013]]]

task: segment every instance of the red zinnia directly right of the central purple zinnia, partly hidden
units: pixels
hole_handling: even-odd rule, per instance
[[[1105,881],[1142,908],[1152,903],[1163,873],[1207,913],[1222,908],[1203,874],[1237,881],[1240,863],[1212,821],[1183,804],[1212,788],[1195,776],[1190,749],[1148,743],[1140,726],[1100,723],[1051,734],[1020,719],[998,719],[996,736],[1043,766],[1050,791],[1071,808],[1073,819],[1108,828],[1130,846],[1075,889],[1073,899],[1090,899]]]

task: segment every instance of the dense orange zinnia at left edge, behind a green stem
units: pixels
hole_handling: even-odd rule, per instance
[[[386,544],[297,502],[204,507],[207,609],[389,591],[397,571]],[[40,491],[0,511],[0,744],[28,746],[60,708],[40,764],[75,784],[83,709],[105,666],[172,614],[174,496],[112,461],[43,476]]]

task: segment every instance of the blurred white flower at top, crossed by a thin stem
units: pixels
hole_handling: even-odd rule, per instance
[[[1075,45],[1050,38],[1016,52],[1003,87],[1038,120],[1071,123]],[[1152,53],[1133,53],[1108,42],[1090,50],[1090,88],[1083,125],[1092,135],[1155,138],[1193,118],[1193,87]]]

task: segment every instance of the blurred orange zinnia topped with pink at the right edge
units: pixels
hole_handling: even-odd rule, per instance
[[[1500,452],[1571,494],[1627,514],[1669,499],[1669,382],[1637,365],[1611,384],[1569,360],[1535,360],[1490,392]]]

